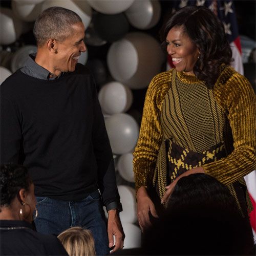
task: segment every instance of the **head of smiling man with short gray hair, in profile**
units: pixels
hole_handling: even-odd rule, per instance
[[[58,76],[73,72],[84,45],[84,25],[73,11],[50,7],[36,19],[33,33],[37,42],[35,61]]]

